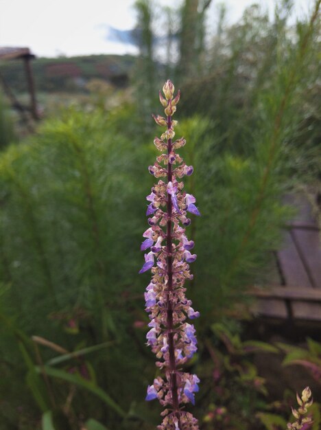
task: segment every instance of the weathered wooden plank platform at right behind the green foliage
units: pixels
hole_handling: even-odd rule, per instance
[[[275,254],[270,288],[254,288],[254,315],[274,319],[321,322],[320,231],[303,195],[287,197],[298,210],[284,231],[284,245]],[[316,200],[316,205],[318,201]]]

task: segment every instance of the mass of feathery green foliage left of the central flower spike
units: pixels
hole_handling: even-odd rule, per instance
[[[136,199],[148,186],[140,181],[148,154],[135,138],[115,133],[112,115],[109,124],[101,111],[68,111],[1,157],[0,270],[6,284],[0,315],[10,315],[1,328],[1,350],[11,366],[1,391],[8,400],[23,402],[30,390],[40,409],[51,408],[41,362],[30,352],[31,335],[67,348],[59,358],[40,350],[42,360],[49,361],[45,374],[52,398],[82,385],[92,393],[86,414],[97,418],[104,418],[104,409],[102,403],[97,407],[95,395],[111,415],[127,410],[136,391],[143,398],[146,363],[138,359],[136,346],[143,345],[142,335],[130,326],[143,302],[137,268],[144,214]],[[28,340],[22,336],[19,352],[13,336],[20,339],[21,328]],[[99,345],[106,341],[113,342],[108,352]],[[84,361],[89,352],[90,363]],[[98,372],[102,387],[69,373],[78,366],[96,380]],[[116,372],[106,372],[115,366]],[[18,394],[19,385],[9,385],[10,375],[26,372],[27,387]],[[55,381],[57,374],[64,383]],[[129,375],[125,391],[121,374]],[[84,407],[78,394],[73,403]]]

